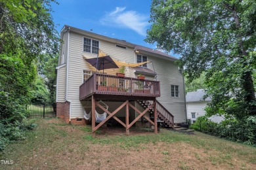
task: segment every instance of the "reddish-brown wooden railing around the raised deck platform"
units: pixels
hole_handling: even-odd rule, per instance
[[[160,82],[94,73],[80,86],[80,100],[93,93],[160,97]]]

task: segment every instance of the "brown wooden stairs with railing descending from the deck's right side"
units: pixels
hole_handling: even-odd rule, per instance
[[[145,101],[145,100],[139,100],[137,101],[141,107],[144,109],[148,108],[149,105],[152,105],[153,101]],[[158,118],[163,121],[162,126],[164,127],[172,127],[174,128],[174,121],[173,121],[173,114],[169,112],[159,101],[156,100],[156,110],[158,114]],[[148,110],[150,115],[154,114],[154,109]]]

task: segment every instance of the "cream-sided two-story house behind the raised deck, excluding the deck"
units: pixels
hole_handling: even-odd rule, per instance
[[[158,97],[157,100],[173,114],[175,123],[186,122],[184,78],[179,66],[175,63],[177,58],[158,50],[68,25],[64,25],[62,28],[60,39],[62,39],[62,43],[60,44],[58,67],[56,67],[57,116],[64,118],[67,123],[85,123],[83,106],[87,105],[88,102],[80,100],[79,86],[96,72],[96,69],[85,61],[84,57],[96,58],[98,50],[126,63],[152,61],[153,64],[146,63],[141,67],[126,67],[125,76],[137,78],[137,75],[142,73],[148,80],[160,81],[161,97]],[[115,75],[117,71],[118,69],[106,69],[104,74]],[[112,106],[117,106],[119,103],[110,101],[108,105],[112,110]],[[140,107],[136,102],[134,105],[137,108]],[[119,116],[122,116],[121,113]]]

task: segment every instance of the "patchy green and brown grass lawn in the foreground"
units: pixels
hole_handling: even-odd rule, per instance
[[[0,169],[256,169],[256,148],[196,132],[100,129],[38,119],[28,139],[11,144]]]

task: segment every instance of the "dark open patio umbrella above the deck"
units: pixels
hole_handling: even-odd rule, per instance
[[[104,73],[104,69],[119,68],[116,65],[115,61],[113,61],[113,59],[110,58],[110,56],[103,56],[100,58],[89,58],[89,59],[85,59],[85,61],[93,65],[93,67],[95,67],[97,70],[103,70],[103,73]]]

